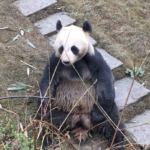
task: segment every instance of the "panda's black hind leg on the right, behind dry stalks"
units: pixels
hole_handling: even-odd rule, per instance
[[[119,112],[118,112],[118,108],[116,106],[116,104],[114,103],[113,107],[112,107],[112,110],[110,111],[111,113],[108,114],[109,117],[111,118],[111,120],[117,125],[118,124],[118,121],[119,121]],[[100,114],[102,115],[102,114]],[[93,125],[97,125],[99,124],[100,122],[96,122],[94,123],[93,122]],[[120,126],[119,126],[119,129],[123,129],[123,124],[121,123]],[[102,123],[101,125],[99,125],[97,127],[97,131],[100,133],[100,134],[103,134],[106,139],[108,140],[108,146],[110,147],[111,145],[111,142],[113,140],[113,137],[114,137],[114,134],[115,134],[115,129],[114,127],[110,124],[109,121],[106,121],[105,123]],[[114,140],[114,144],[115,146],[120,146],[120,148],[118,148],[118,150],[124,150],[124,148],[122,147],[123,145],[123,140],[124,140],[124,136],[122,135],[121,132],[117,132],[117,135],[116,135],[116,138]]]

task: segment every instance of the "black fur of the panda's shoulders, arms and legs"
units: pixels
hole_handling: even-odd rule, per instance
[[[45,67],[43,76],[39,82],[39,89],[41,91],[42,96],[45,95],[45,92],[47,90],[47,87],[49,86],[49,82],[52,78],[52,75],[54,73],[56,65],[58,64],[58,61],[59,58],[55,56],[55,53],[53,53]],[[96,94],[98,95],[98,104],[106,111],[106,113],[109,115],[112,121],[114,121],[117,124],[119,120],[119,112],[114,101],[115,99],[114,78],[110,68],[104,61],[102,55],[95,49],[95,55],[92,56],[87,53],[80,61],[76,62],[74,66],[76,70],[79,72],[79,74],[81,75],[81,77],[83,77],[83,72],[84,72],[83,69],[88,67],[91,73],[90,79],[93,82],[95,82],[96,79],[98,80],[95,85]],[[72,68],[72,66],[64,66],[60,62],[50,86],[50,94],[52,96],[55,96],[55,91],[57,85],[59,84],[60,75],[63,70],[68,70],[70,78],[79,78],[78,74],[76,73],[74,68]],[[45,107],[47,103],[48,100],[44,99],[43,107]],[[39,107],[41,104],[41,99],[38,99],[37,104]],[[63,120],[65,119],[65,117],[67,116],[67,113],[54,109],[54,111],[52,111],[52,118],[50,118],[49,111],[50,109],[48,107],[46,112],[47,115],[45,116],[44,119],[45,120],[52,119],[53,125],[58,128],[60,124],[63,122]],[[41,112],[39,114],[41,114]],[[91,112],[91,121],[93,125],[97,125],[100,122],[105,120],[106,118],[101,113],[99,108],[96,105],[94,105],[94,108]],[[120,125],[120,128],[123,128],[122,124]],[[115,133],[115,130],[110,125],[110,123],[106,122],[105,124],[99,125],[97,127],[97,130],[107,138],[110,145]],[[43,133],[44,133],[44,129],[43,129]],[[45,147],[47,147],[51,143],[49,137],[47,137],[46,139],[48,139],[49,142],[45,142]],[[118,132],[114,144],[119,143],[118,145],[122,145],[122,141],[123,141],[123,135],[120,132]],[[119,150],[123,150],[123,148],[120,148]]]

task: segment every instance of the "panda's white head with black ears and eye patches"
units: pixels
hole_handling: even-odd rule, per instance
[[[64,65],[71,65],[82,59],[87,53],[94,55],[94,48],[89,40],[92,27],[88,21],[83,27],[71,25],[62,27],[60,20],[56,23],[58,35],[54,43],[55,55],[61,56]]]

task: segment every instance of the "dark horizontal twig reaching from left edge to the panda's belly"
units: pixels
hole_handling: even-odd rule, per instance
[[[40,98],[40,99],[51,99],[51,100],[55,100],[55,98],[41,97],[41,96],[33,96],[33,95],[21,95],[21,96],[0,97],[0,100],[9,99],[9,98]]]

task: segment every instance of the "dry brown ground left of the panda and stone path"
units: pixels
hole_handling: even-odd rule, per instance
[[[26,93],[34,93],[38,86],[42,70],[46,65],[47,59],[51,54],[52,47],[30,23],[28,18],[25,18],[11,4],[12,1],[0,1],[0,28],[9,27],[6,30],[0,30],[0,97],[6,96],[6,89],[12,87],[12,84],[17,82],[30,85],[27,90],[12,91],[11,95],[25,95]],[[23,37],[13,41],[13,38],[20,33],[19,29],[32,29],[30,32],[25,32]],[[26,39],[36,46],[36,49],[30,47]],[[35,66],[37,69],[30,68],[30,75],[27,75],[27,67],[20,60]],[[0,103],[5,108],[12,108],[12,111],[19,111],[19,115],[25,116],[25,113],[31,115],[36,111],[36,103],[28,101],[28,109],[25,112],[25,107],[20,108],[24,99],[2,100]],[[24,117],[20,117],[24,122]],[[28,120],[28,119],[27,119]]]

